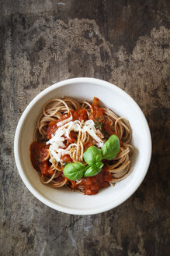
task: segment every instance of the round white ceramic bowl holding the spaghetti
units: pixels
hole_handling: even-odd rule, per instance
[[[135,148],[131,157],[134,171],[127,179],[116,183],[115,187],[107,187],[99,190],[99,194],[88,196],[71,192],[64,187],[54,189],[40,183],[40,176],[30,161],[29,147],[33,141],[33,130],[43,104],[51,98],[61,98],[64,95],[90,101],[95,96],[119,116],[129,120]],[[29,103],[16,128],[14,151],[19,174],[36,198],[57,211],[91,215],[115,208],[141,185],[151,161],[151,133],[141,108],[126,92],[103,80],[75,78],[48,87]]]

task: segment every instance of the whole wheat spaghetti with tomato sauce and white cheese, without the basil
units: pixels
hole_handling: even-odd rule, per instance
[[[83,154],[92,145],[102,148],[109,136],[120,139],[120,151],[113,160],[103,160],[102,171],[96,176],[68,180],[64,166],[70,162],[86,165]],[[100,108],[99,99],[92,102],[73,98],[54,98],[43,106],[37,119],[31,161],[40,173],[40,180],[50,187],[68,187],[82,194],[96,194],[102,187],[114,186],[133,171],[129,156],[132,132],[127,119],[117,116],[109,108]]]

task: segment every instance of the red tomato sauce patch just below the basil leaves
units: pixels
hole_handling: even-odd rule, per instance
[[[79,185],[83,186],[85,194],[91,195],[97,194],[99,189],[103,187],[108,187],[109,181],[111,180],[111,173],[106,172],[105,169],[102,169],[99,174],[92,177],[86,177]]]

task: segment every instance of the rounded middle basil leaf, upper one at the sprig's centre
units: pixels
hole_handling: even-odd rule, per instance
[[[95,162],[100,162],[102,160],[102,150],[95,146],[91,146],[86,149],[83,157],[88,165],[95,164]]]

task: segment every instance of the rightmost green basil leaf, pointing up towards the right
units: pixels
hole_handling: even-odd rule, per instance
[[[103,158],[107,160],[113,160],[120,151],[120,140],[113,134],[109,137],[109,140],[102,146]]]

